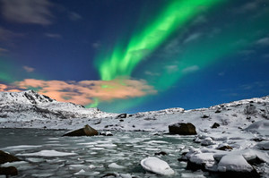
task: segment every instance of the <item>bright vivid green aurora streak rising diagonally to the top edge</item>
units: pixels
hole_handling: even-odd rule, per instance
[[[111,55],[97,57],[100,78],[110,81],[117,77],[131,76],[134,68],[146,56],[161,46],[176,30],[180,29],[195,16],[222,0],[174,0],[163,12],[141,32],[130,38],[127,47],[117,45]]]

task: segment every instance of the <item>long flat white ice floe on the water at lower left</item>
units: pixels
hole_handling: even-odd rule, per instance
[[[30,157],[65,157],[65,156],[72,156],[77,155],[76,153],[66,153],[52,150],[41,150],[35,153],[24,153],[24,154],[17,154],[16,156],[30,156]]]

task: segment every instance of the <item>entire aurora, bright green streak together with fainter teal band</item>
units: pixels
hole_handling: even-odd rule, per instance
[[[241,14],[239,21],[221,24],[219,32],[213,34],[213,30],[206,31],[208,34],[205,32],[205,35],[198,40],[184,44],[184,31],[180,30],[180,27],[188,25],[189,21],[194,21],[198,13],[201,13],[197,11],[197,6],[206,4],[212,7],[220,3],[221,1],[192,1],[190,8],[187,1],[173,1],[161,13],[160,18],[152,22],[143,32],[134,34],[126,48],[116,46],[112,55],[98,58],[101,79],[108,81],[120,76],[130,77],[133,74],[135,78],[148,81],[159,92],[165,92],[176,83],[180,86],[180,80],[190,74],[185,72],[185,69],[195,66],[197,70],[202,71],[205,67],[226,60],[226,57],[238,55],[239,50],[255,45],[257,39],[266,35],[269,30],[268,11],[261,12],[260,17],[253,16],[251,19],[244,18],[244,14]],[[185,9],[186,5],[188,11],[178,13],[180,12],[178,9]],[[143,61],[161,45],[169,44],[167,39],[175,31],[178,34],[178,40],[181,39],[178,48],[181,48],[182,52],[164,58],[157,57],[147,62]],[[139,69],[134,72],[134,68],[139,63],[144,64],[139,65]],[[174,65],[176,70],[173,72],[166,70],[164,67],[168,65]],[[145,75],[145,71],[159,73],[159,75]],[[127,101],[115,101],[113,110],[121,111],[122,108],[131,108],[140,105],[145,100],[151,100],[150,98],[151,96],[146,96]],[[105,103],[100,103],[100,106],[109,107]]]

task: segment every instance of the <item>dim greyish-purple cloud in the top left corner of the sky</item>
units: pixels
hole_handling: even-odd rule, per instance
[[[53,17],[52,6],[47,0],[2,0],[2,11],[6,21],[49,25]]]

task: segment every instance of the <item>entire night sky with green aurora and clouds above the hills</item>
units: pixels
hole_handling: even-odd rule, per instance
[[[0,0],[0,91],[134,113],[269,94],[268,0]]]

